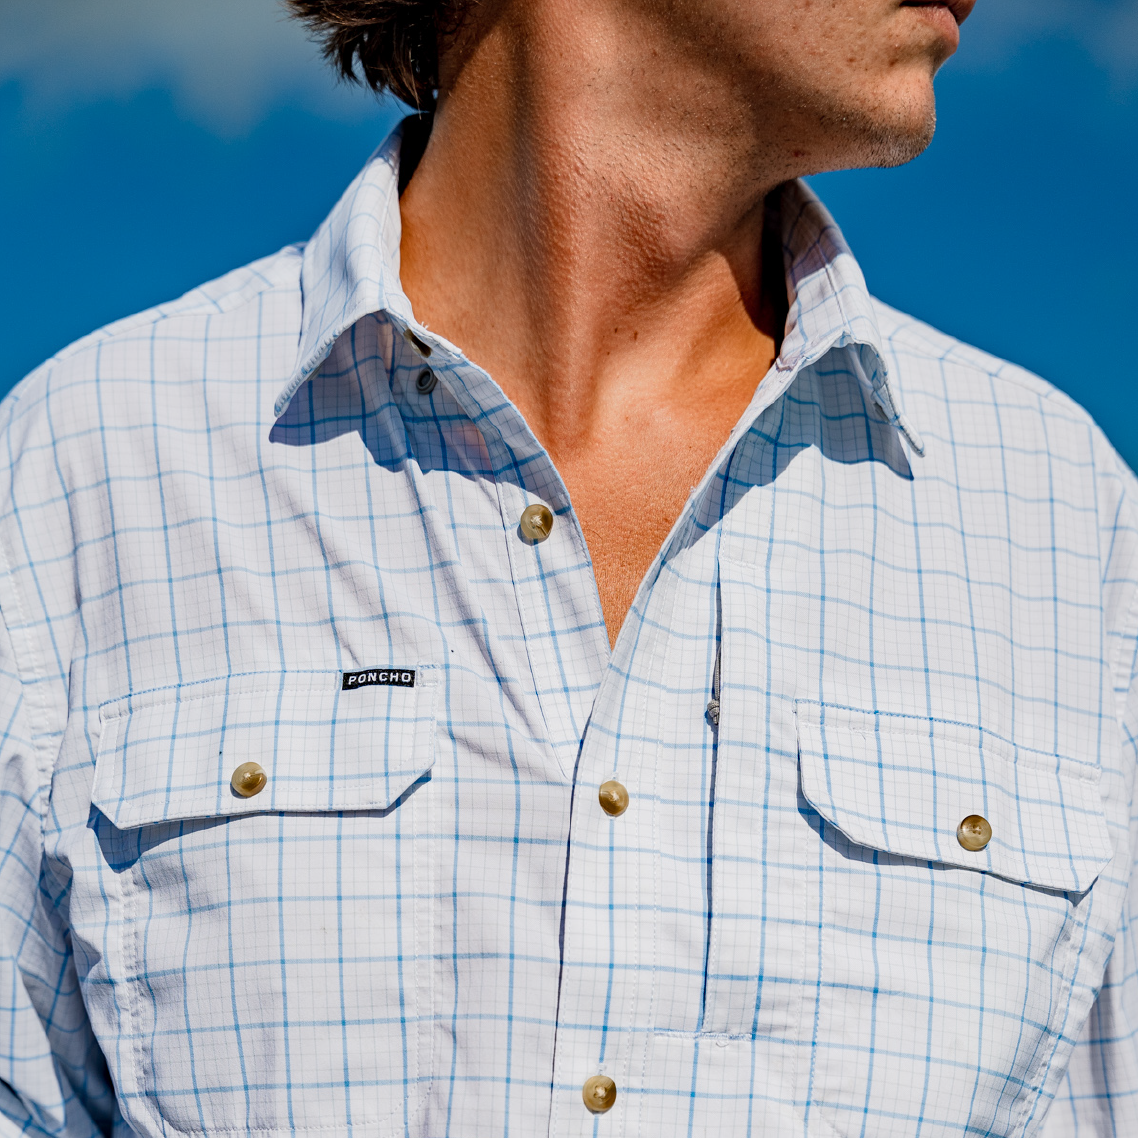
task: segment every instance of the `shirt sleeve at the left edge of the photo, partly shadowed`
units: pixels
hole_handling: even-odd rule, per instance
[[[66,890],[44,874],[50,762],[28,719],[0,617],[0,1138],[88,1138],[123,1128],[80,995]]]

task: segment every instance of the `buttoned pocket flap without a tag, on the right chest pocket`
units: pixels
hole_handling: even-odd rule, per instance
[[[1082,892],[1112,857],[1098,767],[964,724],[799,700],[802,794],[859,846]],[[988,846],[957,840],[970,815]]]

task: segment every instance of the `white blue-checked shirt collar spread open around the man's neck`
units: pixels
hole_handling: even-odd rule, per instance
[[[339,337],[364,316],[384,313],[399,332],[455,351],[415,321],[399,283],[402,139],[401,123],[305,247],[297,363],[273,405],[277,418],[313,378]],[[790,311],[776,362],[783,382],[770,386],[781,393],[803,366],[832,351],[844,351],[871,405],[880,407],[914,451],[923,454],[924,444],[890,384],[873,300],[841,230],[805,182],[787,182],[781,205]]]

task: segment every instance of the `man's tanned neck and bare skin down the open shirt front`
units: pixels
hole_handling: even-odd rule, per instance
[[[613,8],[531,0],[479,28],[401,203],[417,318],[484,366],[550,451],[602,601],[602,562],[620,562],[612,638],[775,354],[762,201],[786,176],[764,167],[773,147],[729,82],[658,19],[612,26]],[[671,465],[645,467],[637,440]],[[618,481],[644,489],[637,471],[674,485],[629,554],[603,498]]]

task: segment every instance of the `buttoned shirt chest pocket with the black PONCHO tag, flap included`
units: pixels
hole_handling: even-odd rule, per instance
[[[438,686],[254,674],[101,709],[102,1044],[135,1129],[403,1132],[429,1070]]]

